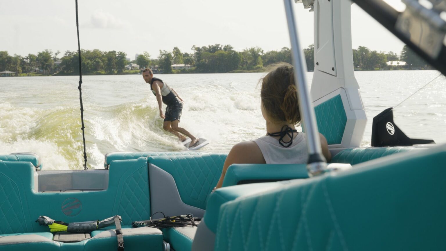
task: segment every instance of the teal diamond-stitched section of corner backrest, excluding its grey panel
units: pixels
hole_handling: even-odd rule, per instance
[[[149,163],[173,176],[181,200],[187,205],[206,208],[206,200],[217,184],[225,154],[149,157]]]

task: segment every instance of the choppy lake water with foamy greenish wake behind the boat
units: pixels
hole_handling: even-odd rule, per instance
[[[368,117],[399,104],[438,71],[358,71]],[[240,141],[265,134],[258,80],[264,73],[157,75],[186,101],[181,126],[211,141],[204,151],[227,153]],[[313,73],[307,73],[311,83]],[[78,76],[0,78],[0,154],[35,152],[44,170],[81,169],[82,131]],[[162,130],[155,96],[141,75],[83,76],[89,168],[103,168],[111,151],[181,151]],[[409,137],[446,142],[446,79],[440,76],[394,109]]]

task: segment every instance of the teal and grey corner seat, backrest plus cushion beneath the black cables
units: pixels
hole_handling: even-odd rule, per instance
[[[195,217],[202,217],[209,194],[220,178],[226,156],[195,154],[149,157],[151,211],[169,216],[192,213]],[[175,251],[190,251],[196,229],[163,229],[164,239]]]

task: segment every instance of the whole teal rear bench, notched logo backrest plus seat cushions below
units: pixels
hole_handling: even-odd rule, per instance
[[[31,162],[0,161],[1,251],[97,251],[117,248],[114,230],[93,231],[92,238],[75,243],[54,241],[48,227],[35,222],[41,215],[63,222],[83,222],[120,215],[126,251],[140,251],[145,245],[150,245],[151,250],[162,250],[161,230],[125,227],[132,221],[148,219],[151,215],[147,158],[112,161],[108,171],[108,188],[103,191],[35,192],[34,170]],[[64,211],[63,205],[73,203],[73,199],[78,201],[79,207]]]

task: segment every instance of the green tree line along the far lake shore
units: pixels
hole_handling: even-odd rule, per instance
[[[281,50],[264,52],[259,47],[236,51],[231,45],[193,46],[192,52],[181,52],[178,47],[172,51],[160,50],[157,58],[152,58],[147,52],[139,54],[135,60],[128,60],[122,51],[82,50],[82,73],[85,75],[128,74],[137,73],[140,69],[150,67],[157,73],[225,73],[225,72],[258,72],[264,71],[273,63],[291,63],[291,50],[283,47]],[[314,46],[304,49],[308,71],[314,70]],[[388,61],[403,61],[404,68],[426,68],[425,61],[420,59],[407,46],[401,54],[369,50],[359,46],[352,50],[355,70],[392,70],[403,66],[388,66]],[[63,55],[59,51],[43,50],[37,54],[9,55],[0,51],[0,71],[14,71],[21,75],[77,75],[79,73],[78,51],[67,50]],[[138,67],[129,71],[130,63]],[[189,69],[173,70],[172,64],[189,65]],[[134,67],[130,67],[134,68]]]

